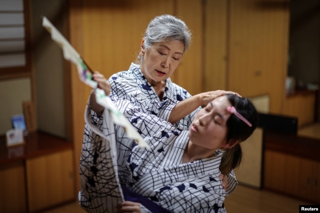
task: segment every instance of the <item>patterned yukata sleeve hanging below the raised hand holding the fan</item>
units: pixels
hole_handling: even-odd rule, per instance
[[[103,112],[100,128],[92,120],[89,104],[80,155],[80,207],[89,213],[113,213],[124,201],[118,177],[115,129],[110,112]]]

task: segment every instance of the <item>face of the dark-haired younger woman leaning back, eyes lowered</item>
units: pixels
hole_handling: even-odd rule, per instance
[[[226,122],[231,115],[226,110],[228,106],[231,106],[231,103],[223,95],[211,101],[196,114],[189,130],[192,144],[212,151],[225,148]]]

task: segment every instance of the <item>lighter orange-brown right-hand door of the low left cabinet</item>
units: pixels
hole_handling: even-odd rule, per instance
[[[27,159],[26,169],[30,212],[74,199],[71,150]]]

